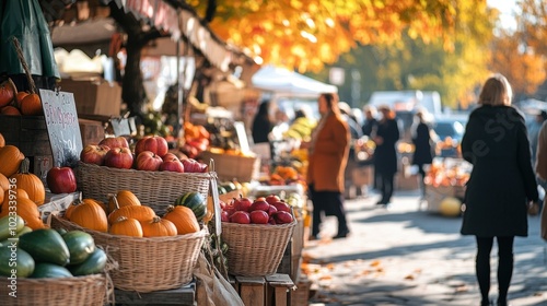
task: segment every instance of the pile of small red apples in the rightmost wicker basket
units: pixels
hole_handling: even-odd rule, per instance
[[[238,224],[287,224],[293,221],[291,207],[278,196],[234,198],[230,203],[221,202],[221,221]]]

